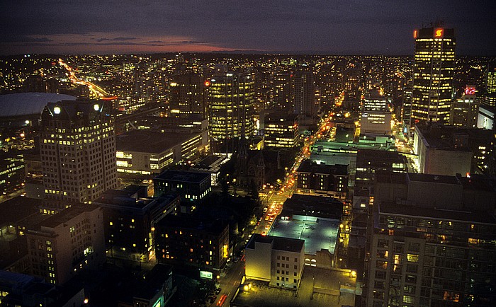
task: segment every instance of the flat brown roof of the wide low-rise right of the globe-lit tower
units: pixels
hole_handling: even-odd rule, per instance
[[[151,154],[162,154],[174,146],[181,145],[200,133],[179,134],[133,130],[115,137],[117,151],[134,151]],[[144,146],[146,144],[146,146]]]

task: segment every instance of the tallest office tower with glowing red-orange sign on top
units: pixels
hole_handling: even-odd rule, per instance
[[[449,123],[455,61],[454,29],[415,30],[412,124]]]

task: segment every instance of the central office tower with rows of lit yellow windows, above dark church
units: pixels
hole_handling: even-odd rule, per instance
[[[234,139],[249,139],[254,132],[254,78],[242,73],[214,76],[208,97],[213,149],[233,152]]]

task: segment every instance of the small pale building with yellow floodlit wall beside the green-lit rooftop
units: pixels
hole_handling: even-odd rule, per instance
[[[247,279],[298,289],[305,267],[305,241],[254,234],[244,253]]]

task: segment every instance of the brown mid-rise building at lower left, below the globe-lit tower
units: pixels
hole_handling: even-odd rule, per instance
[[[77,204],[26,231],[30,274],[50,284],[64,284],[81,270],[105,262],[103,209]]]

